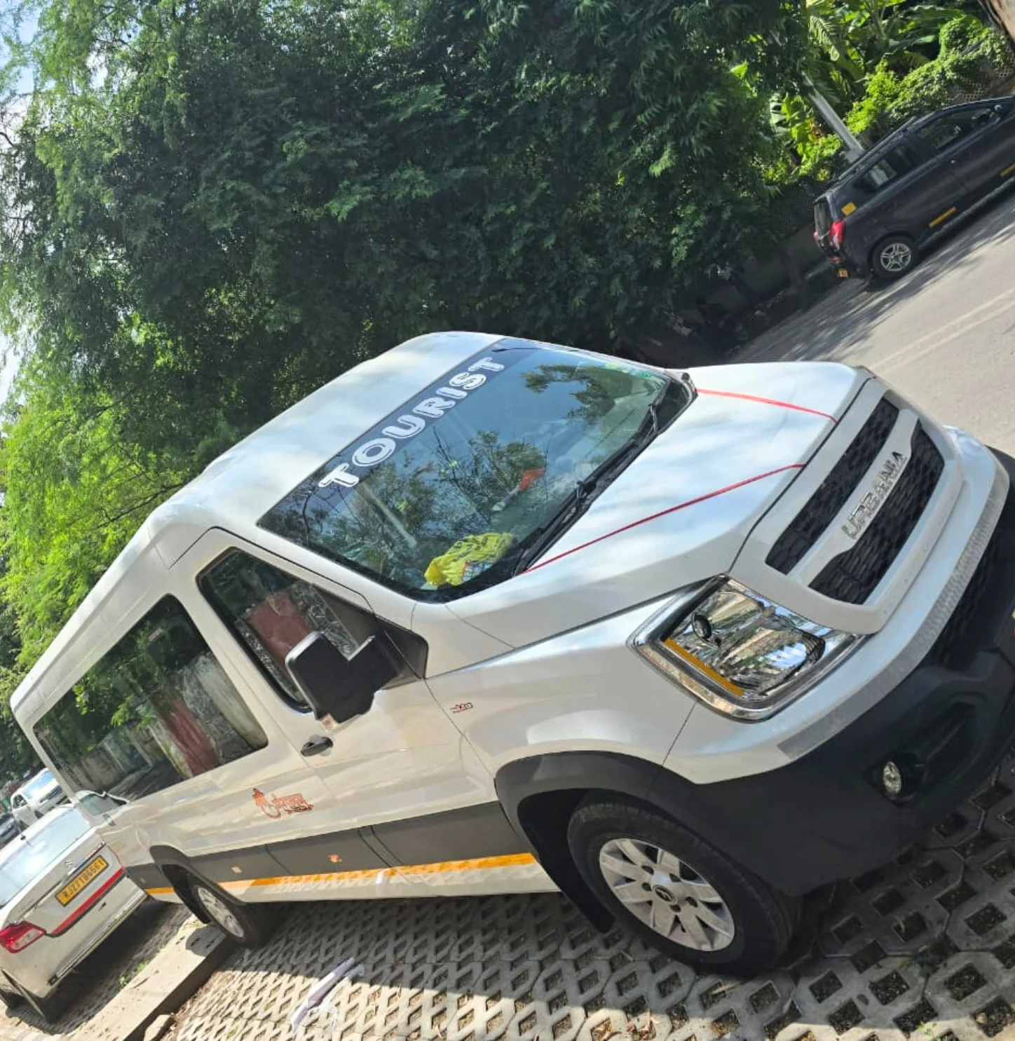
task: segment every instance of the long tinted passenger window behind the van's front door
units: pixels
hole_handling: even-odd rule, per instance
[[[182,605],[166,596],[35,723],[75,791],[133,799],[264,747]]]

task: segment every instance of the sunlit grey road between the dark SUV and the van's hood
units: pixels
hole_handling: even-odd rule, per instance
[[[867,365],[942,422],[1015,454],[1015,195],[900,282],[843,284],[740,357]]]

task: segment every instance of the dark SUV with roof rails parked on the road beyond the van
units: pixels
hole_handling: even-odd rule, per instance
[[[818,197],[814,238],[842,278],[899,278],[1013,174],[1015,99],[942,108],[879,142]]]

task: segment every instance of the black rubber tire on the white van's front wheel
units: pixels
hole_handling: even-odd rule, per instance
[[[641,913],[651,916],[655,915],[653,909],[659,905],[655,894],[665,895],[667,908],[662,913],[669,910],[673,915],[670,936],[664,936],[637,917],[614,894],[604,874],[600,865],[601,852],[606,847],[607,862],[615,863],[610,853],[617,848],[615,843],[628,840],[651,844],[681,862],[679,879],[677,874],[664,871],[661,865],[657,865],[652,874],[649,873],[650,868],[641,868],[646,871],[645,878],[652,881],[637,885],[641,890],[648,887],[649,895],[642,897],[632,892],[632,896],[639,900],[635,906]],[[610,914],[679,961],[705,969],[747,973],[771,968],[789,946],[800,918],[800,902],[777,893],[759,878],[661,813],[621,798],[591,797],[579,806],[572,816],[567,843],[582,878]],[[640,846],[635,848],[644,852]],[[650,854],[650,858],[652,856]],[[671,861],[669,866],[673,866]],[[633,875],[625,873],[624,877]],[[667,878],[671,882],[667,883]],[[660,882],[660,879],[663,881]],[[619,874],[615,875],[615,885],[623,881]],[[666,889],[666,885],[673,885],[676,892]],[[693,896],[680,895],[695,886],[700,887],[700,903]],[[716,898],[714,902],[703,899],[702,893],[714,893]],[[649,910],[644,910],[645,907]],[[722,931],[713,929],[711,924],[703,925],[705,916],[721,920]],[[693,937],[684,930],[685,920],[691,922],[693,930],[710,942],[713,949],[706,949],[702,944],[693,945]],[[726,935],[727,930],[732,932],[732,937]],[[673,938],[674,932],[685,936],[686,942]]]

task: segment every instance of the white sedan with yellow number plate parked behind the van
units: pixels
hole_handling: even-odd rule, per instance
[[[76,809],[47,814],[0,849],[0,996],[52,1021],[60,981],[145,898]]]

